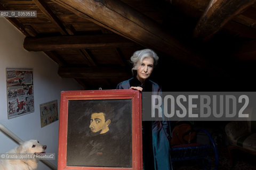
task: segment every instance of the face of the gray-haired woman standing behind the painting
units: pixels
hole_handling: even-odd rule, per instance
[[[141,64],[138,66],[137,79],[144,82],[150,77],[154,69],[154,60],[152,57],[143,58]]]

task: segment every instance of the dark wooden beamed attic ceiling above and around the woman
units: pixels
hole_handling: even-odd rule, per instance
[[[6,18],[44,52],[62,78],[84,89],[114,89],[130,78],[130,56],[154,49],[152,79],[164,90],[253,90],[256,0],[0,0]],[[167,83],[171,81],[171,83]]]

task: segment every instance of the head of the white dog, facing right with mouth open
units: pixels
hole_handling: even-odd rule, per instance
[[[46,145],[41,145],[37,140],[29,140],[22,143],[17,148],[17,151],[20,153],[31,153],[31,154],[43,155],[45,154],[46,148],[47,148]]]

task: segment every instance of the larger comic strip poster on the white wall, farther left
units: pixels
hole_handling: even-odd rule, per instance
[[[34,112],[32,69],[6,69],[6,86],[8,118]]]

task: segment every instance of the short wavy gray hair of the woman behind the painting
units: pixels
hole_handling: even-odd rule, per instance
[[[154,67],[157,65],[158,56],[152,49],[138,50],[131,56],[131,63],[133,64],[132,72],[138,70],[138,63],[141,63],[145,57],[153,58]]]

